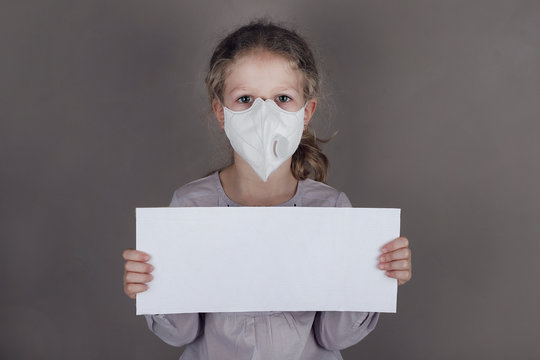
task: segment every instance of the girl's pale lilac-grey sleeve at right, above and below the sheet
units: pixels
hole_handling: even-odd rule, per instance
[[[352,204],[341,192],[335,206],[352,207]],[[375,329],[378,320],[378,312],[318,311],[313,322],[315,339],[327,350],[342,350],[360,342]]]

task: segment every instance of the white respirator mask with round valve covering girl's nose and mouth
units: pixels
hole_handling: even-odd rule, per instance
[[[246,110],[223,106],[225,133],[233,149],[264,182],[298,148],[306,105],[296,112],[286,111],[273,100],[258,97]]]

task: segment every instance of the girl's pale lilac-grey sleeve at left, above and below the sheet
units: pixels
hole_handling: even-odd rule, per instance
[[[169,207],[180,206],[176,191]],[[148,328],[165,343],[184,346],[204,332],[204,313],[145,314]]]

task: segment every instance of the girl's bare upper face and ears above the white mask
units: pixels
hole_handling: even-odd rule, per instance
[[[291,67],[283,56],[268,51],[254,51],[238,58],[229,68],[223,91],[223,105],[233,111],[251,107],[257,97],[272,99],[287,111],[298,111],[305,104],[303,75]],[[304,116],[307,126],[317,101],[308,101]],[[214,113],[223,129],[223,106],[212,102]]]

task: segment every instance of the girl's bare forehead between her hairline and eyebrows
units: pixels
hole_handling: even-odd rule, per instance
[[[302,89],[302,72],[282,55],[264,50],[250,51],[236,59],[228,69],[225,91],[238,87]]]

